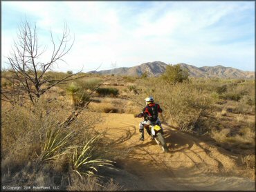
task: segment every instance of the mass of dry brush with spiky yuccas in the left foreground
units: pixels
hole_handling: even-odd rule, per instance
[[[66,119],[69,111],[57,101],[49,103],[41,98],[35,106],[14,105],[2,110],[1,171],[4,185],[60,186],[64,190],[72,186],[69,179],[75,179],[73,173],[79,172],[82,176],[79,183],[84,183],[87,177],[83,171],[93,175],[98,168],[111,166],[113,162],[105,157],[116,158],[111,156],[104,138],[95,140],[99,136],[95,136],[91,128],[100,121],[97,114],[84,113],[86,118],[78,118],[70,126],[63,127],[60,122]],[[118,186],[111,184],[111,187]],[[105,183],[103,188],[110,185]]]

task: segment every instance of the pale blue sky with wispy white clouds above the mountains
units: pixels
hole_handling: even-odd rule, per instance
[[[48,61],[65,23],[73,47],[54,70],[152,61],[255,71],[255,1],[1,1],[1,67],[21,22],[37,25]],[[116,65],[115,65],[116,64]]]

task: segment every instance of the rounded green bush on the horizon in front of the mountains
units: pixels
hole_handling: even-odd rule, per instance
[[[181,69],[180,65],[166,66],[165,73],[161,76],[168,84],[181,83],[188,80],[188,71]]]

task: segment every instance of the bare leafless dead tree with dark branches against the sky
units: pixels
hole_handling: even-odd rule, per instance
[[[15,90],[11,94],[1,91],[1,98],[8,102],[15,102],[15,95],[21,95],[21,92],[30,99],[30,102],[35,104],[39,97],[41,97],[47,90],[60,84],[64,81],[74,79],[75,74],[67,75],[62,79],[48,79],[46,72],[50,70],[58,61],[64,61],[63,57],[71,50],[74,41],[71,41],[68,27],[64,25],[62,36],[59,41],[53,38],[51,32],[51,43],[53,50],[51,51],[51,58],[48,61],[42,61],[40,57],[46,51],[40,49],[37,37],[37,26],[31,25],[28,21],[24,21],[19,26],[17,32],[17,41],[14,42],[12,52],[8,59],[8,66],[10,66],[11,77],[3,77],[11,81]],[[64,61],[65,62],[65,61]],[[17,97],[16,97],[17,98]]]

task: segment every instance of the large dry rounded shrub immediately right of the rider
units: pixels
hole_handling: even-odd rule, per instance
[[[165,119],[178,124],[183,131],[195,130],[196,124],[215,102],[210,95],[203,94],[193,84],[164,84],[158,78],[140,84],[144,92],[134,99],[141,103],[145,97],[152,95],[161,104]]]

